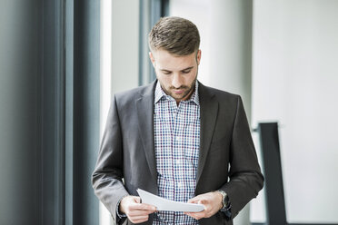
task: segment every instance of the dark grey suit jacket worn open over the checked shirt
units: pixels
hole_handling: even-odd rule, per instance
[[[138,195],[138,188],[157,194],[155,83],[115,94],[108,114],[92,181],[96,196],[117,223],[123,222],[115,212],[125,195]],[[202,83],[199,97],[201,140],[195,195],[224,190],[232,204],[230,220],[218,212],[199,223],[233,224],[239,210],[263,188],[263,175],[241,97]],[[152,224],[152,220],[150,215],[143,224]]]

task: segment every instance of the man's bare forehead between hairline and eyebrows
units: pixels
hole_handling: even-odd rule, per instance
[[[178,56],[165,50],[154,51],[154,60],[160,70],[184,70],[196,64],[196,54]]]

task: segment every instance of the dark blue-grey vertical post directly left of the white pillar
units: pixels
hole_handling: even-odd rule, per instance
[[[91,175],[100,145],[100,1],[74,1],[73,224],[99,223]]]

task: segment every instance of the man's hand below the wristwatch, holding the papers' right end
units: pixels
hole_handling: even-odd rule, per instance
[[[184,214],[191,216],[196,220],[212,217],[217,211],[222,209],[222,201],[223,195],[218,191],[197,195],[188,202],[203,204],[204,210],[199,212],[184,212]]]

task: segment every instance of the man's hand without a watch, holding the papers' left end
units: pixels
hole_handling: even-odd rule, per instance
[[[140,197],[126,196],[120,202],[119,210],[124,213],[133,223],[145,222],[149,214],[154,213],[156,208],[149,204],[141,203]]]

